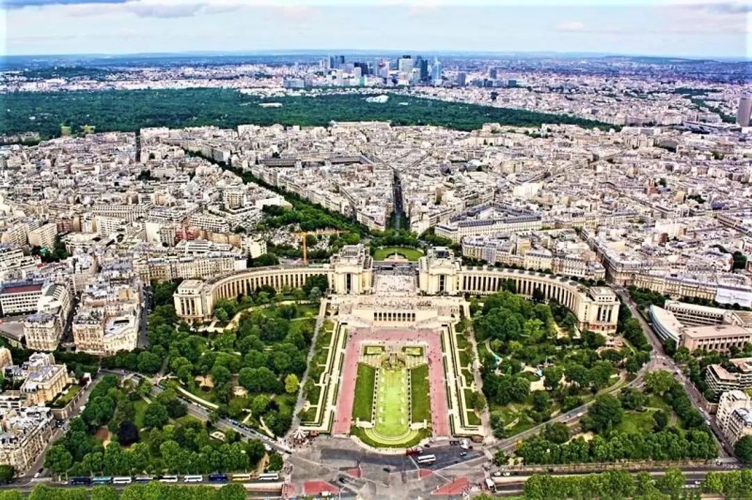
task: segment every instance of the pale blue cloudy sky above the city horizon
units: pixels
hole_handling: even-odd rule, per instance
[[[0,0],[0,54],[384,50],[752,59],[752,0]]]

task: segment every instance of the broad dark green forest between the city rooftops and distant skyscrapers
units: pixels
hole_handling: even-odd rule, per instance
[[[70,126],[74,132],[82,125],[94,125],[96,131],[136,131],[144,127],[235,127],[246,123],[327,125],[332,120],[388,120],[394,125],[441,125],[468,131],[488,122],[610,127],[575,116],[401,95],[393,95],[384,104],[365,102],[365,95],[285,97],[272,101],[282,106],[261,107],[259,98],[232,89],[11,92],[4,96],[0,134],[35,131],[43,137],[53,137],[60,134],[60,125]]]

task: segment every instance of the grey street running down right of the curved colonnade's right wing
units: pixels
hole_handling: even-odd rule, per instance
[[[650,324],[648,324],[647,321],[645,321],[645,318],[640,314],[637,309],[637,305],[632,300],[632,297],[629,297],[629,294],[623,288],[614,288],[614,290],[621,298],[622,303],[625,303],[626,306],[629,307],[629,312],[632,312],[632,316],[634,318],[637,318],[637,321],[639,321],[645,337],[647,337],[647,341],[650,342],[650,345],[653,346],[653,352],[650,353],[650,363],[648,363],[650,370],[666,370],[667,372],[671,372],[675,375],[678,381],[680,381],[684,386],[684,389],[687,390],[687,395],[690,396],[692,404],[695,406],[695,408],[699,409],[699,411],[701,411],[703,415],[705,415],[706,419],[708,419],[707,421],[710,423],[710,428],[712,429],[716,440],[719,442],[718,450],[720,456],[724,459],[733,459],[731,445],[728,441],[726,441],[726,438],[723,437],[723,433],[720,432],[720,429],[715,423],[715,420],[711,419],[708,416],[707,411],[705,411],[705,405],[703,404],[705,402],[705,398],[702,396],[702,394],[699,393],[699,391],[695,387],[695,384],[693,384],[692,381],[690,381],[684,375],[684,372],[681,370],[681,366],[679,366],[678,363],[675,363],[675,361],[671,357],[662,354],[663,343],[653,331],[653,328],[650,327]],[[735,462],[735,459],[732,461]]]

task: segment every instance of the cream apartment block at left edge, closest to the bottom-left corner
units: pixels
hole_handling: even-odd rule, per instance
[[[0,414],[0,465],[11,465],[17,475],[30,472],[53,433],[52,409],[44,406],[13,408]]]

